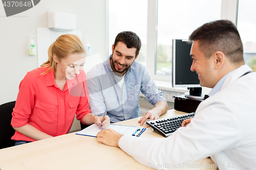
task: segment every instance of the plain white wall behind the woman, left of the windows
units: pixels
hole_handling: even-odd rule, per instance
[[[28,55],[29,36],[37,27],[47,27],[47,11],[76,15],[76,28],[82,37],[90,38],[92,54],[106,58],[105,0],[42,0],[35,7],[6,17],[0,4],[0,104],[15,101],[20,81],[37,67],[37,56]]]

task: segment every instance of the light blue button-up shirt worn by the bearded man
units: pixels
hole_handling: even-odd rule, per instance
[[[94,115],[101,116],[106,109],[111,123],[138,117],[140,91],[152,105],[166,102],[146,68],[136,61],[127,69],[121,89],[110,65],[111,57],[87,74],[90,108]]]

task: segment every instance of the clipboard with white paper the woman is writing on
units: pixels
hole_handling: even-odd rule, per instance
[[[136,137],[139,137],[146,130],[146,128],[142,128],[142,127],[114,125],[114,124],[110,124],[110,127],[106,128],[106,129],[113,129],[113,130],[121,133],[122,135],[131,135],[131,136],[136,136]],[[93,124],[85,129],[77,132],[76,134],[96,137],[98,132],[100,132],[100,127],[96,124]]]

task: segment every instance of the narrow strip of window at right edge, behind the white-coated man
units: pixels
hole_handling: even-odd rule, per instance
[[[238,31],[240,33],[245,63],[256,71],[256,17],[255,0],[239,1],[238,4]]]

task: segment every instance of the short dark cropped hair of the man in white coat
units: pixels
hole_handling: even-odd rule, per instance
[[[230,20],[205,23],[189,36],[189,40],[199,40],[199,50],[206,58],[221,51],[231,63],[244,64],[243,43],[237,27]]]

